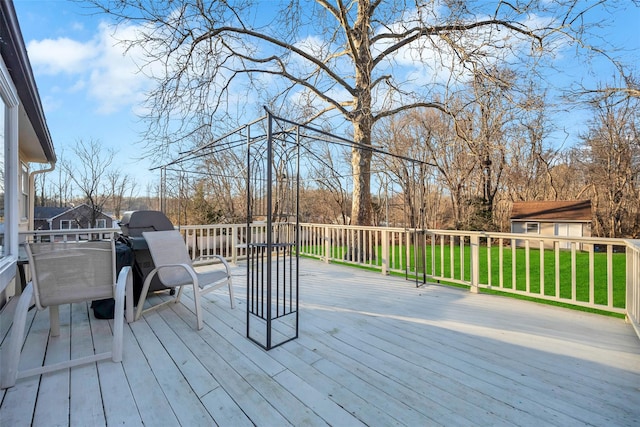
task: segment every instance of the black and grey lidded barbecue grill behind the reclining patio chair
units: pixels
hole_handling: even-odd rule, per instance
[[[122,239],[133,251],[133,296],[136,304],[140,298],[144,280],[155,268],[147,241],[142,237],[142,233],[173,230],[174,228],[169,218],[160,211],[129,211],[122,216],[120,220]],[[166,289],[157,275],[151,280],[150,292]]]

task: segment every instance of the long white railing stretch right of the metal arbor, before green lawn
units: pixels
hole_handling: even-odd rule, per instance
[[[362,246],[359,242],[365,249],[353,250]],[[626,267],[634,246],[622,239],[303,224],[300,247],[326,262],[401,273],[418,282],[448,282],[472,292],[482,288],[619,314],[626,313],[627,285],[639,286],[637,274]],[[637,251],[635,246],[636,262]]]

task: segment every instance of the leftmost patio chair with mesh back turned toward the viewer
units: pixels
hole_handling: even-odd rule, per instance
[[[18,378],[41,375],[72,366],[111,359],[122,361],[124,300],[132,296],[130,267],[124,267],[116,281],[116,258],[113,241],[31,243],[26,246],[31,281],[20,295],[14,313],[11,337],[2,360],[0,387],[15,385]],[[35,368],[18,370],[25,338],[27,312],[35,304],[38,310],[49,308],[50,337],[60,335],[58,306],[101,298],[115,299],[113,343],[111,351],[93,353]],[[128,320],[132,312],[127,313]]]

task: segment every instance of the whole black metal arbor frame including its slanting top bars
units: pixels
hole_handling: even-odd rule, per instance
[[[243,167],[219,165],[218,174],[235,174],[243,181],[246,202],[247,337],[269,350],[298,337],[300,266],[300,186],[312,163],[324,162],[317,145],[351,148],[352,140],[267,114],[215,140],[182,153],[160,167],[161,206],[167,172],[179,176],[202,173],[203,159],[233,151]],[[425,163],[374,147],[377,154],[409,164]],[[244,160],[241,160],[244,159]],[[211,179],[215,175],[208,174]],[[220,177],[222,175],[218,175]],[[305,178],[306,177],[306,178]],[[343,178],[351,178],[350,174]],[[346,183],[347,181],[345,181]],[[348,185],[348,184],[346,184]],[[416,265],[418,260],[416,260]]]

